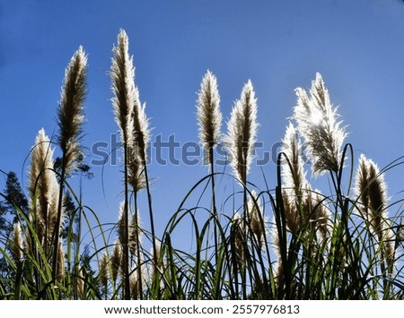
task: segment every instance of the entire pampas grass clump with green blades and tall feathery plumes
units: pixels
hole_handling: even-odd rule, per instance
[[[296,89],[275,183],[259,189],[249,175],[259,127],[252,83],[242,88],[224,135],[217,79],[207,71],[197,119],[208,171],[159,236],[146,157],[150,123],[124,30],[112,54],[111,102],[123,155],[118,221],[101,224],[81,190],[77,194],[68,183],[69,176],[89,169],[79,144],[87,67],[80,47],[66,69],[57,138],[52,141],[41,129],[31,149],[28,198],[15,174],[4,173],[0,298],[404,298],[403,201],[389,204],[384,180],[390,169],[402,167],[403,157],[379,168],[361,154],[356,165],[321,74],[309,92]],[[218,146],[226,151],[231,173],[216,167]],[[61,158],[54,158],[56,149]],[[327,179],[327,193],[314,188],[309,168],[312,176]],[[267,180],[265,171],[262,176]],[[142,190],[150,229],[141,222]],[[186,240],[184,228],[190,228]]]

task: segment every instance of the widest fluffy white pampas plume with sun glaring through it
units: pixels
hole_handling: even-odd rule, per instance
[[[338,121],[338,107],[331,105],[321,74],[317,73],[312,82],[310,98],[302,88],[295,91],[297,105],[294,107],[294,119],[304,137],[307,155],[312,159],[313,175],[338,171],[347,133],[341,126],[342,122]]]

